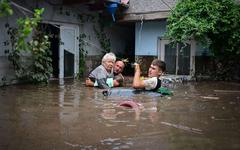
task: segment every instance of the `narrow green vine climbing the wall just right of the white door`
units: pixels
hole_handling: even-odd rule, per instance
[[[86,34],[79,35],[79,73],[77,75],[78,78],[81,78],[85,73],[85,64],[86,64],[86,56],[87,51],[85,50],[85,42],[84,39],[86,38]]]

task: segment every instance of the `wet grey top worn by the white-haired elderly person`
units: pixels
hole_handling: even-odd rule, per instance
[[[95,82],[94,85],[103,89],[109,88],[108,83],[113,80],[113,77],[113,71],[107,72],[103,65],[98,66],[89,74],[89,78]]]

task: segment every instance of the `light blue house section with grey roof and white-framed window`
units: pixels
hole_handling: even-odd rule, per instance
[[[119,22],[135,24],[135,59],[144,65],[145,73],[151,60],[159,58],[167,65],[167,74],[184,75],[189,79],[196,72],[205,72],[209,50],[194,39],[171,46],[165,37],[167,18],[176,0],[131,0]],[[204,61],[203,61],[204,59]]]

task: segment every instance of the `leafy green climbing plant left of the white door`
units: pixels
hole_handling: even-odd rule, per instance
[[[48,36],[37,29],[43,11],[44,9],[36,9],[33,18],[18,19],[18,28],[6,25],[12,45],[9,60],[13,64],[16,76],[34,83],[48,82],[52,73]],[[27,42],[26,39],[32,33],[32,40]],[[29,57],[24,57],[26,55]]]

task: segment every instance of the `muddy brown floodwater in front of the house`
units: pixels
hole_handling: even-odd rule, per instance
[[[79,81],[0,88],[1,150],[240,149],[240,84],[191,82],[173,96]],[[120,107],[134,101],[138,108]]]

